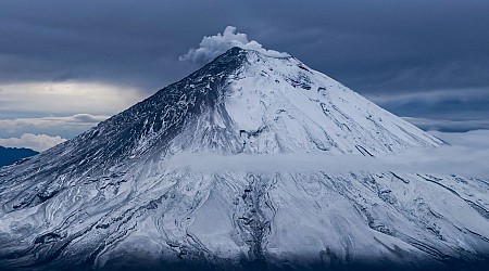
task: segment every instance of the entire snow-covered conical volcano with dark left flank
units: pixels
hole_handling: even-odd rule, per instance
[[[484,264],[488,179],[171,163],[376,159],[441,144],[292,56],[233,48],[79,137],[1,168],[0,267]]]

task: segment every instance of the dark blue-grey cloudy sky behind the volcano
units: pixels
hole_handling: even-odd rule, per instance
[[[77,136],[199,68],[189,50],[227,26],[425,130],[489,129],[487,14],[487,0],[0,0],[0,145]]]

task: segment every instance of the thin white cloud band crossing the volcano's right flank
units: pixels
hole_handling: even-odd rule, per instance
[[[178,154],[167,163],[173,168],[196,171],[297,172],[349,171],[463,175],[489,177],[489,130],[467,133],[441,133],[451,143],[440,147],[418,147],[378,157],[327,154],[215,155]]]

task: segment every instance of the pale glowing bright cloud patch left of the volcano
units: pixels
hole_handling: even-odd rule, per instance
[[[3,83],[0,138],[20,138],[24,133],[73,138],[146,95],[134,88],[101,82]]]

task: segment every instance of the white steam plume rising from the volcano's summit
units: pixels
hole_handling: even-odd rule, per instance
[[[246,34],[237,33],[236,27],[227,26],[223,34],[220,33],[215,36],[203,37],[198,49],[190,49],[187,54],[181,55],[179,60],[196,63],[208,63],[233,47],[255,50],[269,56],[289,56],[287,53],[266,50],[255,40],[249,41]]]

